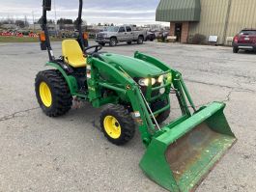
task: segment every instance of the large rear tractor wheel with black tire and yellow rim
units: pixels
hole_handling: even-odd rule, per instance
[[[35,81],[36,96],[46,116],[58,117],[70,111],[72,96],[60,71],[54,69],[41,71],[37,74]],[[44,91],[46,89],[44,95],[43,86]]]

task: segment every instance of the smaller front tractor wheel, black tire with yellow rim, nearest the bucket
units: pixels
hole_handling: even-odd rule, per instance
[[[117,146],[128,143],[135,133],[135,123],[122,105],[109,104],[103,109],[100,126],[107,140]]]

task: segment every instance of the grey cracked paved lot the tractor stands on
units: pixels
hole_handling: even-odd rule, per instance
[[[60,43],[53,43],[56,55]],[[105,51],[139,50],[180,70],[197,106],[225,101],[238,143],[215,166],[198,192],[256,191],[256,55],[229,47],[122,44]],[[43,115],[34,78],[46,52],[38,43],[0,43],[0,191],[163,192],[138,167],[145,149],[139,133],[124,147],[99,130],[100,109],[85,103],[61,118]],[[178,115],[174,107],[170,117]]]

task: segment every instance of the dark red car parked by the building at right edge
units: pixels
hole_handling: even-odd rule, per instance
[[[240,49],[256,51],[256,29],[243,29],[233,42],[233,52],[238,53]]]

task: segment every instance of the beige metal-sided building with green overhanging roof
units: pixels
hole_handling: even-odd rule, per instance
[[[256,28],[256,0],[160,0],[156,21],[170,22],[177,41],[202,34],[228,44],[243,28]]]

